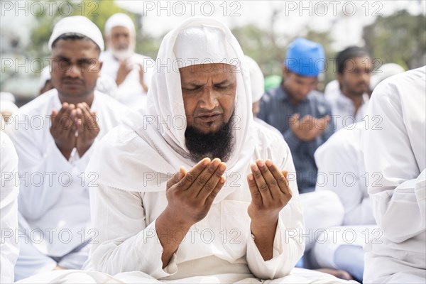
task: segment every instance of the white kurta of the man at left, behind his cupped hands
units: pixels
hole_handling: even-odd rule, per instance
[[[20,159],[19,212],[28,222],[29,241],[48,256],[64,256],[94,236],[89,231],[88,187],[97,173],[84,177],[84,170],[99,139],[126,111],[115,99],[95,91],[91,109],[97,112],[99,134],[81,158],[73,151],[66,160],[50,134],[51,111],[60,108],[58,92],[52,89],[21,107],[10,127]]]

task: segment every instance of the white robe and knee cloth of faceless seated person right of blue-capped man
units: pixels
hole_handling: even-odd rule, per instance
[[[336,193],[344,208],[342,222],[317,238],[311,257],[320,267],[339,268],[334,259],[339,246],[362,247],[368,236],[378,234],[367,192],[368,180],[377,175],[366,173],[362,151],[365,127],[361,121],[340,129],[315,151],[319,177],[315,192]]]

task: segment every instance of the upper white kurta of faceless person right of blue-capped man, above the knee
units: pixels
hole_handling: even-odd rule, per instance
[[[341,129],[315,151],[315,190],[331,190],[339,196],[344,207],[342,225],[376,224],[367,186],[368,180],[375,181],[380,175],[366,173],[362,151],[365,128],[361,122]]]

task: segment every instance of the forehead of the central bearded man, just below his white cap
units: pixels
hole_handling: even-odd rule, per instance
[[[224,63],[190,65],[179,69],[182,82],[207,80],[209,77],[218,80],[236,80],[236,67]]]

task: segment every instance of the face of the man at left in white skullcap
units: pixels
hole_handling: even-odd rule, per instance
[[[58,40],[52,48],[51,81],[65,97],[86,97],[96,86],[102,62],[92,40]]]

